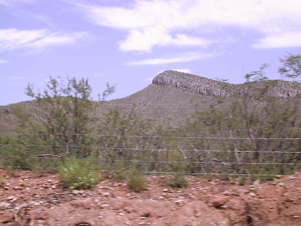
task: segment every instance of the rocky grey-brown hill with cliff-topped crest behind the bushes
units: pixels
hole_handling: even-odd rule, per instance
[[[102,117],[114,106],[124,111],[135,107],[141,116],[152,119],[155,123],[177,126],[184,122],[196,110],[207,109],[212,104],[227,106],[233,100],[249,96],[274,96],[279,99],[301,96],[301,84],[284,80],[268,80],[230,84],[188,73],[168,70],[153,79],[153,83],[127,97],[95,102],[96,116]],[[258,101],[258,100],[254,100]],[[12,132],[16,127],[13,106],[20,107],[34,120],[42,120],[45,112],[35,101],[0,106],[0,132]]]

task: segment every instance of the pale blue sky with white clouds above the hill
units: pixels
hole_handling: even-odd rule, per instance
[[[301,53],[299,0],[0,0],[0,105],[30,100],[50,76],[88,78],[109,99],[164,70],[245,82]]]

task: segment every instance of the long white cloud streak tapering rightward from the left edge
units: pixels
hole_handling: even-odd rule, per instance
[[[85,37],[85,32],[51,32],[41,30],[0,30],[0,52],[30,48],[39,50],[48,46],[73,44]]]

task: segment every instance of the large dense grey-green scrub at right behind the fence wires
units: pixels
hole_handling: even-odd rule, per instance
[[[300,141],[254,138],[298,138],[301,132],[299,104],[300,101],[289,98],[285,101],[272,97],[260,101],[245,98],[233,101],[227,107],[212,105],[208,110],[196,112],[181,128],[182,133],[189,137],[217,139],[186,141],[186,149],[195,150],[189,152],[192,161],[197,159],[204,162],[194,164],[191,170],[212,173],[291,173],[296,169],[294,166],[275,163],[299,163]],[[184,144],[182,141],[181,145]],[[296,153],[287,154],[287,151]]]

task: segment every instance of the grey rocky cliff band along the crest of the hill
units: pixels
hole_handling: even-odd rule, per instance
[[[256,96],[264,92],[265,95],[274,97],[301,97],[301,84],[298,82],[268,80],[231,84],[173,70],[157,75],[153,84],[173,86],[209,96],[242,97],[246,93]]]

